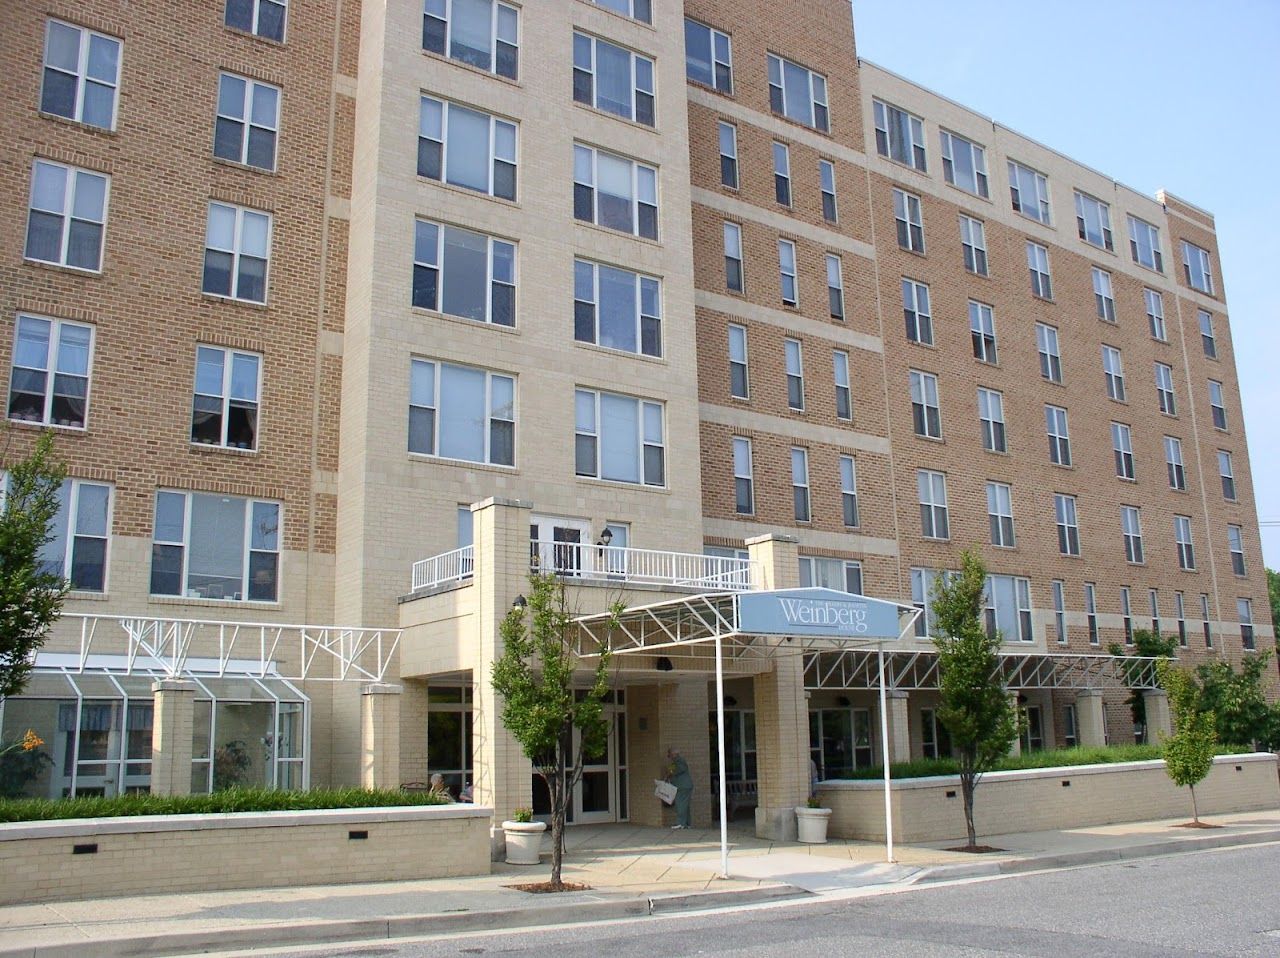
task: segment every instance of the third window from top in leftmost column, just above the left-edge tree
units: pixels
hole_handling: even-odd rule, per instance
[[[9,375],[9,419],[83,429],[93,327],[18,316]]]

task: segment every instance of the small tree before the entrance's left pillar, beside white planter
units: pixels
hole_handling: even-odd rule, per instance
[[[617,613],[614,607],[614,615]],[[529,599],[502,622],[502,657],[493,663],[493,686],[503,698],[502,722],[534,771],[547,783],[552,806],[552,877],[562,889],[564,818],[588,754],[608,744],[609,718],[603,702],[609,692],[609,652],[600,649],[588,689],[575,689],[579,665],[573,651],[573,619],[564,583],[554,575],[529,576]],[[579,731],[573,747],[573,729]]]

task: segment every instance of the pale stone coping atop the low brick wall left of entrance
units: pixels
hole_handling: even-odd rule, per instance
[[[297,825],[369,825],[379,822],[448,821],[493,817],[493,808],[472,804],[385,806],[380,808],[307,808],[218,815],[120,815],[109,818],[59,818],[0,824],[0,841],[19,839],[131,835],[156,831],[214,831],[219,829],[279,829]]]

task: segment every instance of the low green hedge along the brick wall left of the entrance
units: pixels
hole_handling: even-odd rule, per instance
[[[219,815],[312,808],[381,808],[445,804],[426,793],[366,789],[225,789],[211,795],[116,795],[114,798],[13,798],[0,800],[0,822],[114,818],[132,815]]]

